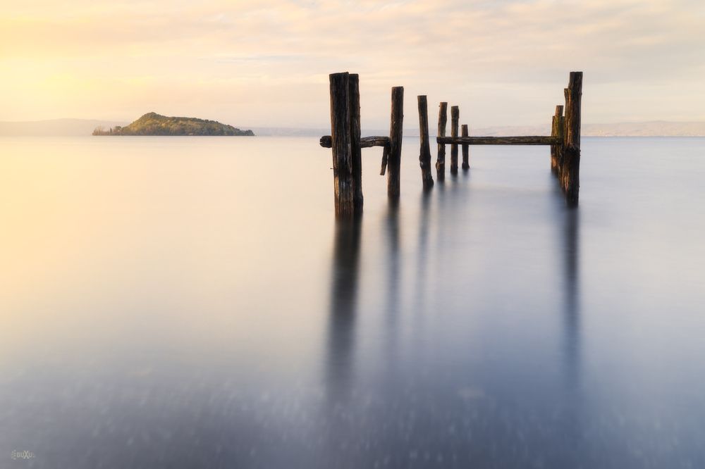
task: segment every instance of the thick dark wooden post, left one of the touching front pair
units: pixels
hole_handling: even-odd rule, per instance
[[[355,215],[355,179],[353,151],[350,146],[350,74],[331,73],[329,81],[336,216],[351,218]]]

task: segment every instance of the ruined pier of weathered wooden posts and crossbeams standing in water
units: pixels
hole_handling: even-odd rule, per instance
[[[404,120],[404,88],[392,88],[391,123],[388,137],[360,137],[360,79],[353,73],[333,73],[331,85],[331,135],[321,137],[321,146],[333,149],[333,178],[336,215],[351,217],[362,213],[361,149],[382,147],[380,174],[387,174],[387,194],[400,194],[402,125]],[[556,106],[551,123],[551,136],[471,137],[467,125],[458,136],[460,109],[450,108],[450,137],[446,137],[448,103],[439,105],[439,125],[436,143],[436,178],[446,177],[446,145],[450,144],[450,174],[458,173],[458,145],[462,148],[462,170],[470,168],[470,145],[550,145],[551,171],[558,177],[569,206],[577,206],[580,188],[580,102],[582,72],[571,72],[568,88],[564,89],[563,106]],[[431,144],[427,96],[417,96],[419,104],[419,164],[424,189],[434,186],[431,173]]]

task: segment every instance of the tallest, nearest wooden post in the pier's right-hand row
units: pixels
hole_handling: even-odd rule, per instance
[[[565,92],[565,123],[563,135],[563,167],[560,180],[565,190],[565,201],[577,206],[580,191],[580,104],[582,100],[582,72],[570,72]]]

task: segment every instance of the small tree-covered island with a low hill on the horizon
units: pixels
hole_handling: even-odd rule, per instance
[[[215,120],[197,118],[167,117],[157,113],[147,113],[130,125],[116,125],[105,130],[96,127],[93,135],[235,135],[254,136],[252,130],[240,130],[232,125]]]

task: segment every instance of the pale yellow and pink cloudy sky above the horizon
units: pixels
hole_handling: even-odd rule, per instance
[[[470,127],[550,122],[571,70],[583,122],[705,120],[705,2],[0,0],[0,120],[329,127],[328,75],[360,74],[363,128],[391,87]]]

